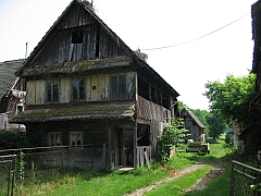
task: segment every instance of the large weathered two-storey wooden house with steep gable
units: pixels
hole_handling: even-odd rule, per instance
[[[26,110],[12,122],[42,146],[66,145],[73,154],[92,144],[95,167],[139,167],[156,155],[179,96],[145,58],[91,3],[73,0],[17,72],[26,79]]]

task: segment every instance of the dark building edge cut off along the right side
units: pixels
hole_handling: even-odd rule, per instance
[[[252,73],[257,74],[256,97],[250,103],[250,115],[252,126],[243,130],[239,138],[244,139],[245,151],[256,154],[261,149],[261,1],[257,1],[251,7],[252,17],[252,39],[253,39],[253,59]]]

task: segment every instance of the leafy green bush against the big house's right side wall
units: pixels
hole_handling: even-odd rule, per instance
[[[171,124],[163,128],[160,137],[159,150],[161,158],[167,160],[170,157],[170,148],[178,146],[184,143],[185,136],[188,131],[185,128],[184,120],[181,118],[172,119]]]

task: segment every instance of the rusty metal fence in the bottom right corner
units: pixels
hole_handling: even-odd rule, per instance
[[[260,183],[261,170],[237,161],[232,162],[231,196],[261,196]]]

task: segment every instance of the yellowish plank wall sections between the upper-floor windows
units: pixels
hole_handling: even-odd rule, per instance
[[[135,72],[126,74],[127,97],[134,99],[135,95]],[[102,101],[110,100],[110,74],[92,74],[84,76],[86,78],[86,101]],[[60,103],[70,102],[72,100],[72,78],[62,77],[60,82]],[[28,81],[26,105],[45,105],[46,97],[46,81]]]

